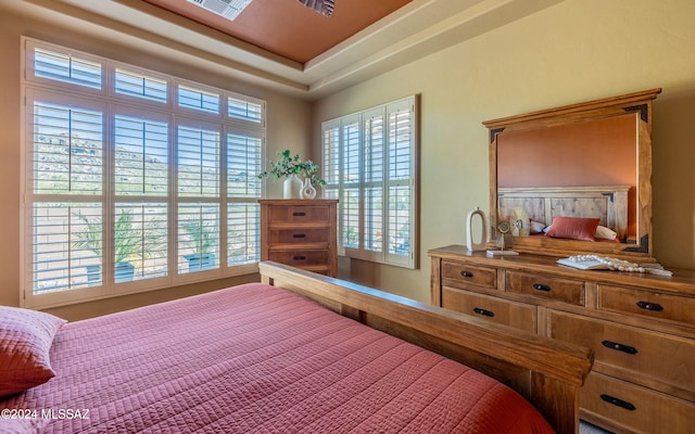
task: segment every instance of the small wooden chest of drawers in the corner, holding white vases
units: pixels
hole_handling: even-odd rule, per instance
[[[261,260],[338,276],[336,200],[261,200]]]

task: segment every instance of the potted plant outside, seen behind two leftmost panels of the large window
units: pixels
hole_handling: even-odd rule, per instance
[[[83,220],[87,230],[76,232],[73,237],[76,241],[73,248],[89,250],[98,258],[102,258],[103,242],[101,218],[88,218],[83,214],[76,214]],[[132,214],[123,210],[114,225],[114,275],[116,283],[131,281],[135,276],[135,266],[131,260],[137,260],[142,255],[142,239],[132,237]],[[87,281],[89,284],[97,284],[101,278],[101,264],[87,266]]]

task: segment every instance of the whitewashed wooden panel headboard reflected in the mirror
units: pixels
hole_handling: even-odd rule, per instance
[[[599,218],[599,225],[624,242],[629,190],[630,186],[498,188],[498,219],[509,220],[515,208],[544,225],[551,225],[553,217]]]

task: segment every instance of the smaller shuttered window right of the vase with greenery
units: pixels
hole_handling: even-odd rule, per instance
[[[341,255],[416,268],[416,97],[323,124],[325,196]]]

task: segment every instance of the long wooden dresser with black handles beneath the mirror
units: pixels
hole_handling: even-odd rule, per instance
[[[581,271],[459,245],[428,255],[432,304],[594,350],[583,420],[617,433],[695,432],[695,271]]]

